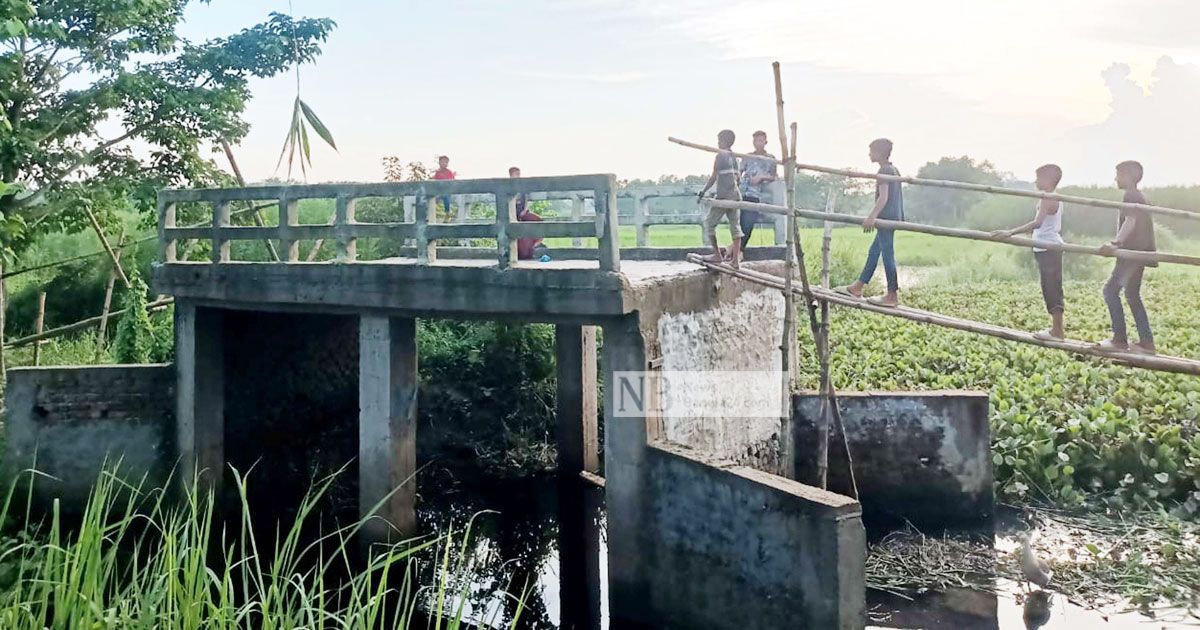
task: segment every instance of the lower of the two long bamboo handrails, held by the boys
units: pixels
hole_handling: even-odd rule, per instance
[[[704,199],[706,204],[710,204],[714,208],[740,208],[744,210],[756,210],[758,212],[764,212],[768,215],[786,215],[788,212],[787,206],[774,205],[774,204],[760,204],[752,202],[732,202],[725,199]],[[821,212],[817,210],[794,210],[796,216],[804,218],[815,218],[818,221],[832,221],[835,223],[848,223],[853,226],[862,226],[865,221],[864,217],[857,215],[844,215],[838,212]],[[982,232],[978,229],[966,229],[966,228],[946,228],[942,226],[926,226],[924,223],[911,223],[908,221],[889,221],[886,218],[876,220],[875,226],[884,229],[894,229],[899,232],[917,232],[920,234],[932,234],[936,236],[950,236],[955,239],[968,239],[977,241],[989,241],[989,242],[1001,242],[1004,245],[1015,245],[1019,247],[1037,247],[1042,250],[1061,251],[1061,252],[1073,252],[1073,253],[1086,253],[1091,256],[1103,256],[1106,258],[1122,258],[1128,260],[1138,260],[1140,263],[1170,263],[1176,265],[1188,265],[1188,266],[1200,266],[1200,256],[1187,256],[1181,253],[1159,253],[1159,252],[1139,252],[1135,250],[1104,250],[1102,247],[1093,247],[1091,245],[1078,245],[1072,242],[1045,242],[1025,236],[996,236],[990,232]]]

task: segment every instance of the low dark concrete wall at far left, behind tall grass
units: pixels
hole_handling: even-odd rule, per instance
[[[161,487],[174,464],[175,372],[169,365],[18,367],[8,371],[7,478],[36,468],[35,499],[83,509],[109,466]],[[120,464],[118,467],[118,463]]]

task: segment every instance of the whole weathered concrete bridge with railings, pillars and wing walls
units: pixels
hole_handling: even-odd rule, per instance
[[[436,199],[448,194],[474,200],[484,196],[498,211],[486,222],[439,222]],[[522,223],[516,220],[518,196],[590,199],[594,212]],[[359,221],[356,204],[370,198],[410,198],[410,220]],[[332,224],[301,224],[298,206],[304,199],[331,203]],[[264,200],[277,204],[277,224],[232,224],[236,204]],[[114,410],[125,421],[154,415],[127,407],[152,398],[168,371],[174,382],[173,413],[167,414],[174,418],[173,438],[163,438],[169,445],[160,458],[178,458],[185,470],[198,470],[203,482],[218,487],[227,422],[253,421],[242,415],[252,413],[247,409],[286,409],[305,397],[312,384],[289,378],[289,366],[312,348],[331,349],[338,365],[350,364],[347,370],[331,366],[323,386],[358,392],[356,418],[347,421],[358,426],[359,509],[366,515],[380,506],[366,535],[395,540],[415,528],[416,320],[548,323],[556,326],[560,473],[602,472],[606,480],[613,619],[738,629],[787,619],[800,628],[860,628],[863,506],[792,480],[797,469],[784,463],[803,433],[785,426],[785,406],[809,409],[804,401],[811,397],[793,402],[791,392],[782,392],[773,418],[676,416],[653,404],[661,395],[654,386],[656,372],[779,373],[782,296],[683,260],[698,248],[622,250],[616,208],[612,175],[163,191],[152,284],[176,299],[175,365],[146,368],[145,376],[90,372],[83,384],[79,372],[13,371],[10,409],[19,418],[11,419],[24,428],[10,438],[10,451],[16,461],[28,460],[48,438],[46,427],[62,425],[47,418],[80,414],[70,402],[76,398],[61,394],[71,388],[90,396],[88,401],[104,394],[76,390],[107,390],[112,396],[114,390],[136,389],[137,396],[110,403],[106,418]],[[211,212],[211,227],[178,227],[185,211]],[[516,241],[523,238],[580,239],[580,246],[554,250],[551,263],[518,260]],[[362,239],[408,242],[402,252],[408,256],[362,259]],[[487,240],[494,247],[444,245],[460,239]],[[180,244],[187,240],[208,241],[210,259],[184,260]],[[262,240],[276,245],[278,262],[239,259],[240,244]],[[301,244],[318,240],[336,242],[336,259],[301,262]],[[781,250],[750,253],[762,260],[746,264],[781,272]],[[287,343],[263,344],[265,338]],[[253,371],[246,362],[248,346],[265,354],[256,358]],[[602,466],[598,377],[606,384]],[[630,401],[640,413],[628,413]],[[986,502],[977,515],[990,516],[990,467],[984,476],[978,463],[990,462],[986,398],[982,412],[977,402],[964,407],[967,412],[953,412],[949,420],[929,412],[944,412],[936,401],[918,401],[917,412],[905,407],[904,413],[918,418],[906,426],[929,439],[906,442],[907,452],[898,457],[919,456],[919,466],[906,468],[910,479],[923,482],[922,475],[941,475],[929,485],[952,488],[947,492],[955,499],[964,492],[982,496],[985,486]],[[888,404],[882,412],[871,409],[868,416],[888,421],[900,414]],[[961,422],[964,414],[982,416],[982,458],[967,454],[968,446],[978,450],[978,431],[944,430],[946,422]],[[90,420],[85,425],[95,426],[96,419]],[[980,418],[968,420],[978,428]],[[95,439],[92,450],[104,450],[96,444],[106,439],[128,439],[115,434]],[[120,450],[121,444],[110,446]],[[89,457],[52,455],[50,466],[78,467],[95,460]],[[947,466],[935,470],[930,458]],[[894,484],[886,479],[892,462],[869,456],[864,461],[868,469],[881,470],[882,486]]]

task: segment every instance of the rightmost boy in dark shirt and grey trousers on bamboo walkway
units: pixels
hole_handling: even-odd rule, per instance
[[[1142,167],[1134,161],[1117,164],[1117,186],[1124,191],[1124,202],[1130,204],[1146,204],[1146,197],[1138,190],[1141,182]],[[1154,246],[1154,221],[1150,212],[1136,208],[1122,208],[1117,218],[1117,238],[1104,245],[1103,251],[1111,253],[1116,250],[1133,250],[1138,252],[1153,252]],[[1096,347],[1110,352],[1135,352],[1139,354],[1154,354],[1154,334],[1150,330],[1150,317],[1146,314],[1146,306],[1141,302],[1141,278],[1147,266],[1158,266],[1157,263],[1141,263],[1118,258],[1112,266],[1112,275],[1104,284],[1104,302],[1109,307],[1109,317],[1112,318],[1112,338],[1097,343]],[[1138,342],[1130,344],[1126,332],[1124,308],[1121,305],[1121,290],[1124,289],[1126,301],[1129,302],[1129,312],[1133,313],[1134,325],[1138,328]]]

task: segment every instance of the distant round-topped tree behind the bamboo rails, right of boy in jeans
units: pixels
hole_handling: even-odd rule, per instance
[[[967,156],[926,162],[917,172],[917,176],[992,186],[1004,180],[991,162],[986,160],[977,162]],[[942,224],[961,224],[967,211],[983,198],[983,193],[978,192],[924,186],[911,187],[905,193],[906,215]]]

